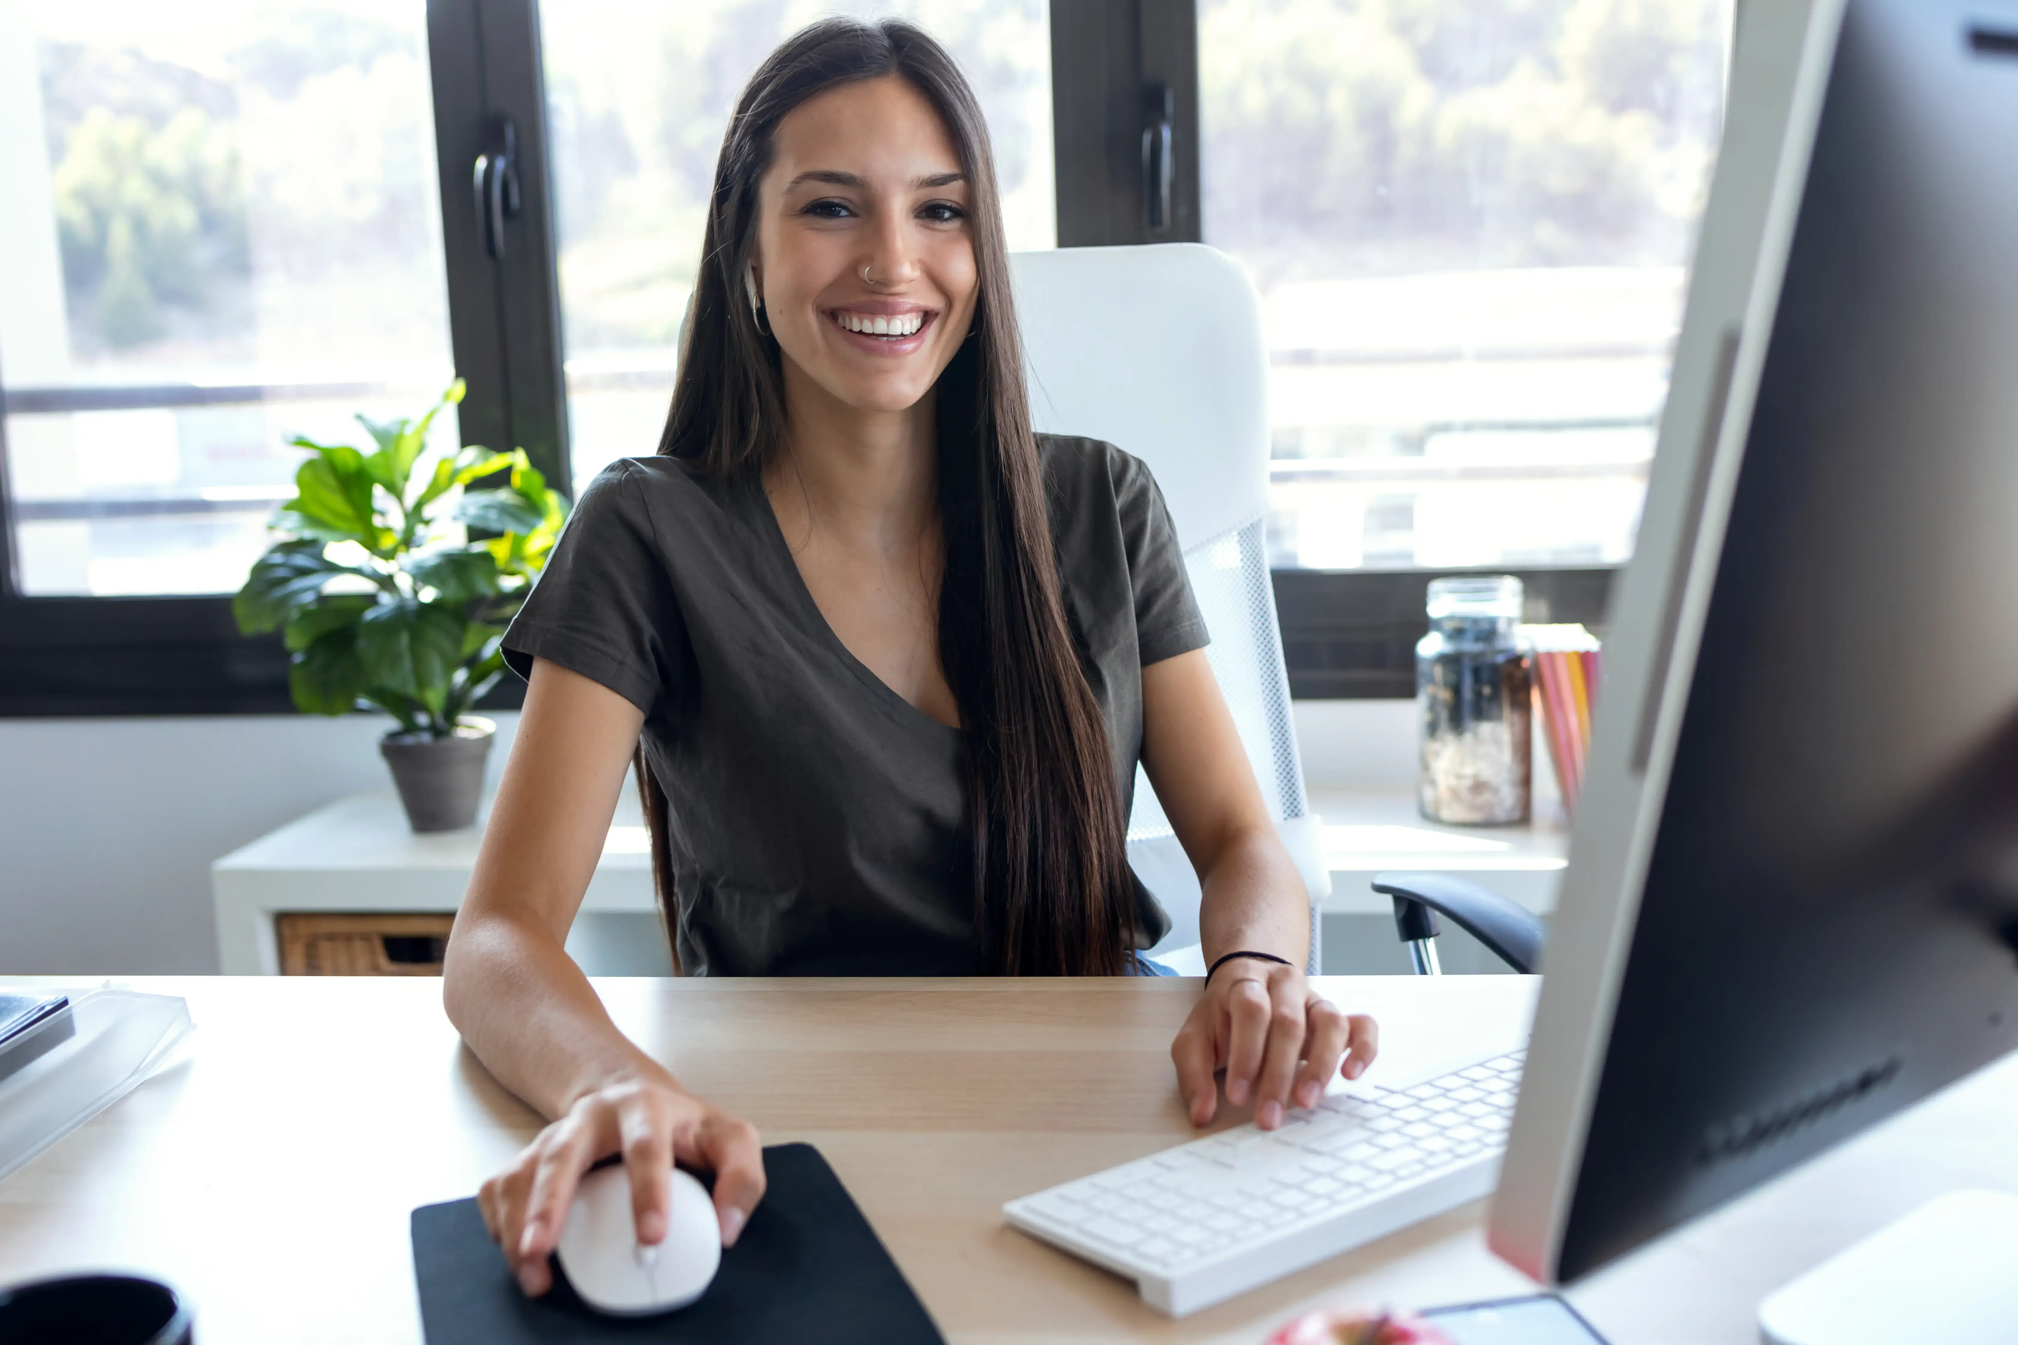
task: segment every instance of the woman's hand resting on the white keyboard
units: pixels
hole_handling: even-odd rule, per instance
[[[1310,988],[1294,966],[1235,958],[1205,982],[1170,1061],[1193,1125],[1219,1109],[1213,1075],[1227,1071],[1227,1101],[1253,1099],[1255,1125],[1275,1129],[1285,1107],[1316,1107],[1332,1075],[1358,1079],[1374,1063],[1380,1030]]]

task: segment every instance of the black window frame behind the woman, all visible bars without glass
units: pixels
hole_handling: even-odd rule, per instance
[[[1049,0],[1057,244],[1197,242],[1197,0]],[[539,0],[428,0],[450,341],[468,383],[464,442],[523,446],[571,490],[557,236],[547,173]],[[476,157],[513,125],[519,210],[478,206]],[[1170,145],[1162,220],[1146,135]],[[1158,194],[1160,196],[1160,194]],[[502,230],[502,256],[486,230]],[[20,514],[6,480],[6,411],[287,401],[331,387],[6,389],[0,351],[0,718],[287,714],[278,637],[244,637],[228,597],[28,597],[14,567]],[[361,391],[361,389],[359,389]],[[1522,571],[1530,617],[1602,627],[1612,569]],[[1415,690],[1429,571],[1275,571],[1296,698]],[[504,684],[486,700],[519,704]]]

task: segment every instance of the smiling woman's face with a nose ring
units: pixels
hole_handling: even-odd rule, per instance
[[[969,184],[902,79],[807,99],[759,184],[757,292],[785,359],[862,411],[916,405],[975,317]]]

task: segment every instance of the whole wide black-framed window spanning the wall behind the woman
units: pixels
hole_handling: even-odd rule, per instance
[[[285,710],[285,651],[228,595],[295,434],[460,373],[444,438],[571,482],[652,452],[731,99],[825,12],[963,63],[1013,248],[1249,266],[1298,696],[1407,694],[1431,569],[1592,619],[1729,4],[0,4],[0,714]]]

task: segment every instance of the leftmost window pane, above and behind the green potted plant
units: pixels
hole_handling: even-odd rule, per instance
[[[418,0],[12,6],[0,145],[20,595],[236,591],[293,436],[454,377]]]

